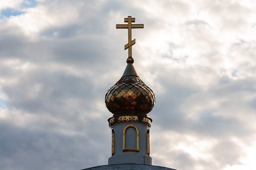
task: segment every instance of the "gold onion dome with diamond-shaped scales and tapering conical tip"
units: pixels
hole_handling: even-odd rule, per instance
[[[138,115],[148,117],[155,104],[154,92],[138,76],[133,58],[127,59],[124,74],[105,96],[105,103],[113,117]],[[152,121],[152,120],[151,120]]]

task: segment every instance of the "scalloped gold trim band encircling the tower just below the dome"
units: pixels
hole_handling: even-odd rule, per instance
[[[148,128],[151,127],[151,118],[148,117],[143,117],[143,116],[135,116],[135,115],[126,115],[126,116],[115,116],[115,117],[110,117],[108,119],[108,125],[112,129],[113,124],[115,122],[121,122],[121,121],[140,121],[143,123],[148,124]]]

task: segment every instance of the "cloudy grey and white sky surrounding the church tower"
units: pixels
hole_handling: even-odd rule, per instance
[[[1,0],[0,169],[108,164],[107,90],[132,54],[154,165],[256,169],[256,1]]]

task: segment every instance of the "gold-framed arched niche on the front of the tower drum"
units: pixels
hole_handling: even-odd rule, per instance
[[[133,130],[135,131],[133,132]],[[129,133],[129,139],[126,140],[127,133]],[[123,151],[139,151],[139,129],[135,125],[127,125],[123,130]],[[126,148],[127,146],[134,146],[132,148]]]

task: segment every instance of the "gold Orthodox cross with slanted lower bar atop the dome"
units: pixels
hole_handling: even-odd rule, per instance
[[[124,45],[124,50],[128,49],[128,59],[126,63],[133,63],[132,45],[135,44],[135,39],[132,40],[132,28],[144,28],[144,24],[132,24],[132,22],[135,22],[135,18],[132,18],[132,16],[124,18],[124,22],[128,22],[128,24],[116,24],[116,28],[128,29],[128,44]]]

